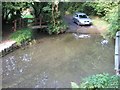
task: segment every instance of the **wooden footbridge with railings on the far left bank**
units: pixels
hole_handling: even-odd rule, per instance
[[[46,28],[45,22],[42,17],[39,18],[19,18],[13,21],[12,30],[29,27],[31,29]]]

